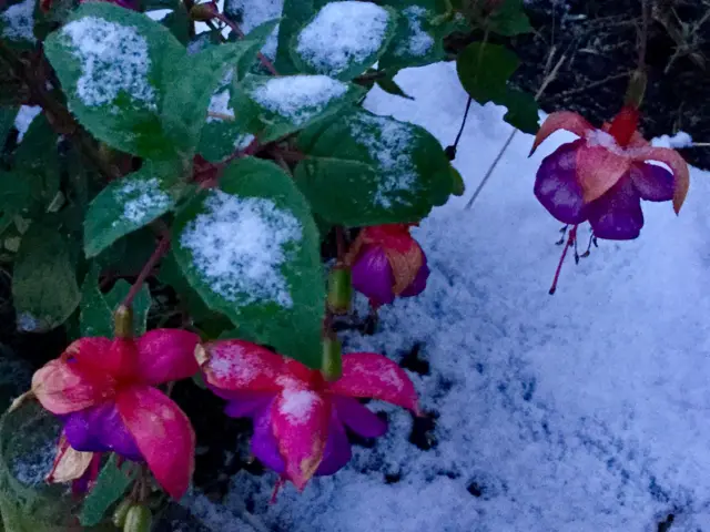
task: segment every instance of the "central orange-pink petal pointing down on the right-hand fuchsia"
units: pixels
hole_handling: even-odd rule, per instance
[[[604,146],[581,145],[577,150],[577,180],[586,203],[594,202],[611,188],[631,167],[625,155]]]

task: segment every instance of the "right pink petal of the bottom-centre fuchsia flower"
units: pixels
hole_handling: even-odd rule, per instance
[[[347,397],[372,397],[417,412],[417,393],[407,374],[387,357],[374,352],[343,356],[343,377],[329,391]]]

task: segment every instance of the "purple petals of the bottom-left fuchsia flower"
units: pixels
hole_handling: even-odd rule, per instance
[[[135,440],[128,431],[114,402],[87,408],[61,417],[69,444],[78,451],[106,452],[142,461]]]

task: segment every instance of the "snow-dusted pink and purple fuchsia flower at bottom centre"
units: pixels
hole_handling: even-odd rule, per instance
[[[365,438],[387,430],[357,398],[417,412],[414,385],[382,355],[343,356],[343,376],[327,382],[321,371],[243,340],[215,341],[195,354],[207,386],[229,401],[225,413],[253,419],[254,456],[298,490],[314,474],[333,474],[349,461],[344,427]]]

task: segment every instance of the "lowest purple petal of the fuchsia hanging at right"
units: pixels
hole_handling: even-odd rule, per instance
[[[627,174],[588,207],[589,223],[599,238],[630,241],[643,227],[641,197]]]

